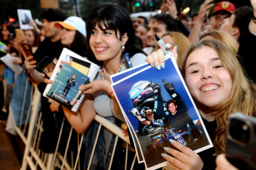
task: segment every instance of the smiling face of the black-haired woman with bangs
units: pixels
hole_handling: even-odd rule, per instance
[[[116,34],[114,30],[108,30],[104,26],[101,30],[96,26],[91,30],[89,44],[93,54],[99,61],[109,61],[113,58],[120,58],[122,55],[122,45],[126,41],[119,40],[119,30]]]

